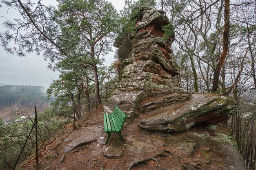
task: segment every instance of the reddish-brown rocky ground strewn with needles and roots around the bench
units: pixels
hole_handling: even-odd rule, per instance
[[[103,127],[102,104],[91,117],[76,122],[77,129],[69,124],[40,148],[41,169],[56,170],[246,170],[237,144],[223,124],[198,124],[183,132],[145,131],[138,126],[140,116],[125,122],[119,139],[112,133],[109,144],[104,145],[107,134]],[[102,138],[104,137],[104,138]],[[70,150],[70,148],[72,148]],[[69,151],[67,151],[69,150]],[[65,155],[65,156],[64,156]],[[62,157],[65,157],[60,163]],[[35,157],[21,165],[33,169]]]

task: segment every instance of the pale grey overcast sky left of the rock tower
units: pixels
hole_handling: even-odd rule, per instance
[[[120,11],[125,0],[108,0],[111,2],[117,11]],[[43,4],[57,5],[56,0],[43,0]],[[17,12],[9,9],[7,13],[7,7],[2,4],[0,8],[0,32],[4,32],[2,23],[6,20],[13,20],[18,18]],[[109,52],[105,56],[104,65],[109,66],[114,61],[115,47],[112,47],[113,52]],[[20,58],[15,54],[7,54],[4,48],[0,46],[0,83],[6,83],[9,85],[36,85],[49,87],[52,80],[59,78],[58,72],[52,72],[47,68],[48,61],[44,61],[42,56],[36,54],[28,54],[27,57]]]

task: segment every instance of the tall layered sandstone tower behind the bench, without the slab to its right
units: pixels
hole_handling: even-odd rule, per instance
[[[132,119],[150,90],[174,87],[171,77],[177,75],[178,70],[171,59],[171,44],[161,38],[164,35],[162,26],[170,23],[162,14],[163,11],[149,7],[140,9],[136,16],[136,34],[116,40],[118,72],[122,80],[104,107],[106,112],[111,113],[117,105],[128,119]],[[174,35],[169,37],[173,39]]]

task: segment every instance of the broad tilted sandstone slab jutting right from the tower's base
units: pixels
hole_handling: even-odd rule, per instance
[[[184,131],[194,124],[217,124],[236,111],[226,96],[189,94],[180,88],[155,89],[138,106],[139,126],[147,130]]]

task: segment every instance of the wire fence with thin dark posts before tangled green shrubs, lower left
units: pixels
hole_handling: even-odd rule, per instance
[[[24,160],[29,159],[32,154],[36,155],[38,164],[38,148],[40,144],[49,141],[58,131],[64,129],[65,125],[73,122],[70,117],[56,116],[52,111],[36,113],[33,110],[19,111],[22,120],[0,126],[0,170],[19,170],[22,169]]]

